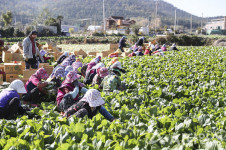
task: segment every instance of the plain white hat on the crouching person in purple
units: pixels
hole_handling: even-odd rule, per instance
[[[27,93],[24,83],[21,80],[14,80],[6,90],[17,91],[17,93]]]

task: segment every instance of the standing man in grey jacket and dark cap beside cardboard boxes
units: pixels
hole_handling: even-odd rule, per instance
[[[35,43],[37,31],[31,31],[30,34],[23,40],[23,57],[26,64],[26,69],[37,69],[38,61],[37,56],[44,62],[43,57],[40,55],[39,49]]]

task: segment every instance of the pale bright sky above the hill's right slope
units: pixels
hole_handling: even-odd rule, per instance
[[[226,0],[164,0],[193,15],[226,16]]]

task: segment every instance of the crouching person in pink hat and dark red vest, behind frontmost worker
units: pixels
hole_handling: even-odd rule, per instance
[[[57,106],[59,111],[65,112],[70,106],[79,100],[79,92],[85,93],[87,91],[83,85],[78,82],[81,76],[75,71],[67,74],[57,93]]]

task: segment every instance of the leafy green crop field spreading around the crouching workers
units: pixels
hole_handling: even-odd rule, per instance
[[[33,119],[0,120],[0,149],[226,149],[225,56],[226,48],[185,47],[123,58],[128,89],[101,93],[114,122],[62,119],[42,103]]]

